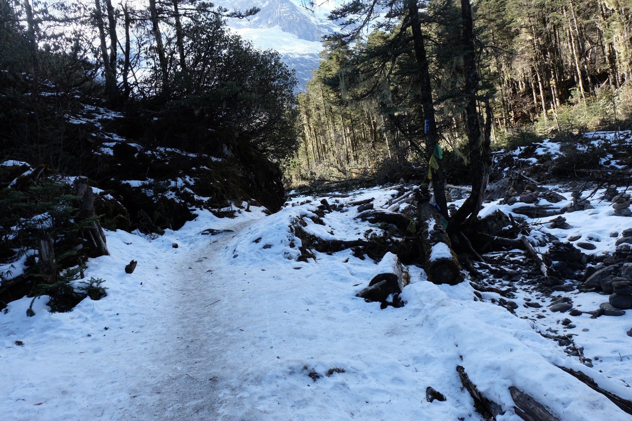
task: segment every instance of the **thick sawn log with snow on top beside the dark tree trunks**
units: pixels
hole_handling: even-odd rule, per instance
[[[420,235],[426,256],[425,271],[435,284],[456,285],[463,280],[456,254],[441,222],[441,215],[430,203],[419,206]]]

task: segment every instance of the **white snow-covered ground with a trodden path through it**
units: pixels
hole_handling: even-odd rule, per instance
[[[328,199],[374,198],[379,207],[392,193],[375,187]],[[485,206],[482,215],[512,207]],[[538,299],[537,292],[521,288],[514,315],[491,301],[494,293],[474,300],[470,283],[437,286],[410,266],[411,283],[402,294],[407,304],[380,310],[380,303],[355,296],[375,275],[371,259],[344,250],[296,261],[301,240],[290,225],[297,218],[323,239],[357,239],[375,227],[354,219],[355,207],[327,213],[325,225],[308,218],[312,203],[269,216],[251,209],[234,219],[199,211],[196,220],[155,240],[107,232],[111,256],[90,259],[86,276],[105,279],[108,295],[85,299],[72,312],[50,313],[42,297],[33,305],[35,316],[27,317],[30,299],[9,303],[0,314],[3,419],[478,419],[458,365],[502,406],[497,420],[521,419],[509,386],[560,420],[630,419],[556,367],[583,371],[632,400],[630,312],[573,317],[576,343],[586,357],[600,357],[589,368],[538,333],[562,329],[557,321],[567,316],[545,305],[522,307],[525,298]],[[630,219],[611,214],[605,203],[595,205],[565,215],[571,230],[542,230],[598,237],[594,252],[612,251],[611,232],[629,228]],[[233,231],[200,234],[207,228]],[[131,259],[138,266],[127,275]],[[596,293],[559,294],[590,309],[607,300]],[[532,311],[545,317],[530,319]],[[446,401],[428,402],[429,386]]]

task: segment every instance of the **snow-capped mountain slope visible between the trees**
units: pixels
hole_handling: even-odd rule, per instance
[[[230,19],[228,25],[234,32],[250,40],[260,49],[277,50],[284,62],[295,69],[300,86],[305,87],[312,71],[320,62],[321,39],[333,33],[337,27],[327,20],[327,14],[337,3],[327,0],[313,8],[301,0],[222,0],[218,4],[228,9],[261,9],[257,15],[246,19]]]

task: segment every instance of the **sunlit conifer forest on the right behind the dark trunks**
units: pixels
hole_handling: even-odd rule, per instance
[[[441,165],[466,181],[475,126],[489,126],[494,150],[629,129],[632,3],[477,0],[471,16],[465,3],[353,1],[332,13],[345,30],[326,40],[298,95],[292,181],[396,181],[428,162],[434,136],[446,151]]]

